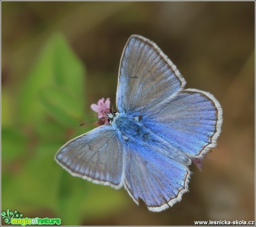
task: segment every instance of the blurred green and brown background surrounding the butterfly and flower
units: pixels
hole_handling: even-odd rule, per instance
[[[254,2],[1,2],[2,200],[29,218],[65,225],[194,225],[253,220]],[[163,49],[186,88],[223,107],[218,147],[190,192],[161,213],[124,189],[68,174],[53,160],[61,145],[95,127],[90,104],[115,103],[122,49],[140,34]]]

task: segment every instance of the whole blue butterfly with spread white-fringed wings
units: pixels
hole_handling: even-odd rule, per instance
[[[132,35],[121,57],[117,112],[106,113],[110,124],[63,145],[57,163],[93,183],[124,186],[150,211],[173,206],[188,191],[191,159],[216,145],[222,124],[213,95],[185,84],[154,42]]]

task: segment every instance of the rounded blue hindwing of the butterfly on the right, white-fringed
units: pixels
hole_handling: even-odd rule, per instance
[[[188,155],[203,155],[220,134],[222,109],[208,92],[186,89],[147,110],[142,124]],[[171,152],[171,150],[170,150]]]

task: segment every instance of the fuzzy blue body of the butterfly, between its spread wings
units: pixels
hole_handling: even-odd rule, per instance
[[[135,116],[135,117],[133,117]],[[147,120],[142,116],[139,120],[137,114],[117,113],[110,121],[113,129],[116,131],[119,140],[123,142],[127,150],[132,150],[132,153],[145,153],[145,159],[149,159],[147,150],[153,153],[161,153],[169,159],[179,159],[180,163],[190,165],[191,160],[181,150],[171,145],[166,138],[154,132],[154,127],[147,127]],[[154,120],[150,120],[151,123]],[[141,149],[137,150],[138,147]]]

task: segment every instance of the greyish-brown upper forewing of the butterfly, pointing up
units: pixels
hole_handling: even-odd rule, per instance
[[[144,112],[178,92],[185,83],[176,66],[155,43],[131,36],[120,63],[117,109]]]

